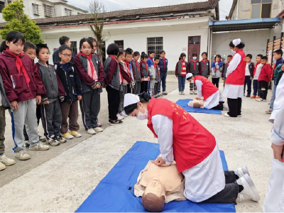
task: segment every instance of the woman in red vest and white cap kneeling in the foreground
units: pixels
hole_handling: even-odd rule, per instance
[[[155,164],[170,165],[175,160],[178,172],[185,175],[184,195],[188,200],[236,203],[239,192],[254,201],[260,199],[246,167],[224,172],[212,133],[177,104],[150,99],[145,92],[126,94],[124,111],[139,120],[148,119],[162,156]]]

